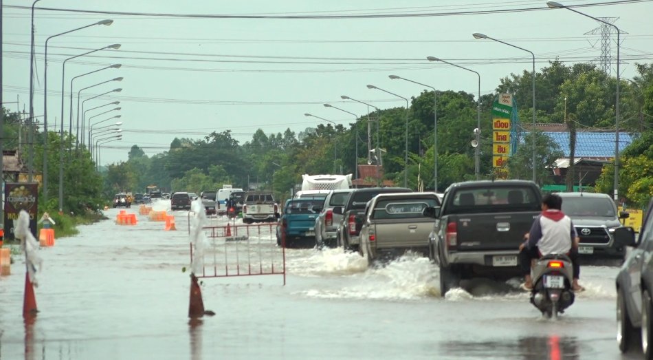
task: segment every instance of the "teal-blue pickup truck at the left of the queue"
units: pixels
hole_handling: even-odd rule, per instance
[[[276,244],[293,247],[300,242],[315,246],[315,220],[322,210],[322,199],[288,199],[276,226]]]

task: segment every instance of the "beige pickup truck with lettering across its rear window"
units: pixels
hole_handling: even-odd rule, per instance
[[[384,193],[376,195],[365,211],[360,231],[360,253],[372,266],[412,250],[426,255],[433,220],[423,215],[427,207],[440,207],[435,193]]]

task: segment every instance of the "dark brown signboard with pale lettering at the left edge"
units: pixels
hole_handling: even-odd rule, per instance
[[[21,210],[30,214],[30,231],[36,235],[38,183],[5,182],[5,239],[14,239],[14,222]]]

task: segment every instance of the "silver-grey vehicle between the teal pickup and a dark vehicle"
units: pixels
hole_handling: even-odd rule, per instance
[[[342,220],[342,214],[333,213],[334,207],[342,207],[353,189],[331,190],[324,199],[324,207],[316,218],[316,246],[322,248],[327,245],[335,247],[337,239],[337,226]],[[318,197],[319,198],[319,197]]]

